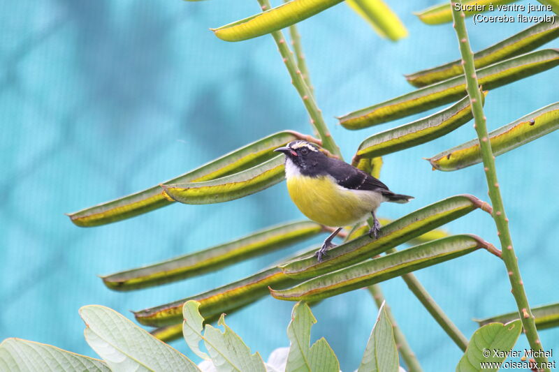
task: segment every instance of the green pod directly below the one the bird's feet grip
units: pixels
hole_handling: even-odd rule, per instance
[[[487,246],[486,241],[474,235],[453,235],[317,276],[293,288],[270,289],[270,293],[277,299],[315,301],[386,281]]]

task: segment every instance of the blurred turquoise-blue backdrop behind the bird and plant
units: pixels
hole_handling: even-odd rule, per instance
[[[363,131],[345,130],[335,115],[412,91],[403,73],[458,58],[450,24],[427,26],[412,15],[434,1],[390,3],[410,31],[398,43],[379,38],[344,4],[300,24],[317,102],[345,158],[365,137],[422,115]],[[103,304],[132,318],[129,309],[235,281],[309,245],[201,278],[119,293],[96,275],[197,251],[301,214],[282,183],[242,200],[174,204],[98,228],[78,228],[64,216],[158,184],[270,133],[311,132],[270,36],[226,43],[208,31],[258,10],[256,0],[0,3],[0,340],[16,336],[93,355],[82,337],[80,306]],[[467,26],[472,48],[479,50],[528,24],[474,25],[469,19]],[[558,101],[558,86],[557,70],[549,70],[491,91],[489,128]],[[384,204],[379,215],[397,218],[457,193],[487,200],[481,165],[432,172],[422,159],[473,137],[470,123],[385,156],[382,180],[416,199]],[[558,141],[559,133],[551,133],[497,159],[532,305],[559,301]],[[482,211],[447,229],[498,244],[493,221]],[[515,309],[504,265],[485,251],[416,275],[467,337],[476,329],[471,318]],[[424,369],[453,370],[460,350],[401,279],[382,288]],[[289,345],[292,305],[267,298],[227,321],[266,359]],[[328,299],[313,311],[313,337],[326,337],[344,371],[355,369],[375,321],[368,292]],[[541,337],[546,349],[559,352],[557,329]],[[181,341],[173,345],[191,356]],[[516,348],[526,345],[521,338]]]

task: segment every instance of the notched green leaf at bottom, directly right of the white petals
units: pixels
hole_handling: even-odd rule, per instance
[[[286,372],[338,372],[340,363],[324,338],[310,348],[310,329],[317,320],[305,303],[293,306],[287,336],[291,345],[287,356]]]

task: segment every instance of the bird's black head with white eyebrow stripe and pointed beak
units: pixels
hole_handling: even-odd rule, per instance
[[[274,151],[284,153],[287,164],[293,163],[298,172],[309,176],[318,175],[327,160],[326,155],[314,144],[302,140],[289,142],[285,147],[279,147]]]

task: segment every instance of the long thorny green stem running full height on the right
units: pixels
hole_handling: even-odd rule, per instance
[[[458,10],[454,8],[456,3],[460,4]],[[454,28],[456,29],[458,45],[460,45],[460,53],[462,54],[462,64],[464,66],[464,73],[466,77],[466,89],[472,103],[472,113],[474,114],[475,121],[474,128],[476,129],[481,148],[481,158],[484,161],[489,198],[491,198],[491,203],[493,204],[493,219],[495,220],[495,225],[497,226],[502,248],[502,260],[504,261],[505,267],[507,267],[512,287],[511,292],[516,301],[516,305],[518,306],[518,313],[520,314],[520,318],[522,320],[524,333],[526,334],[526,338],[528,338],[528,343],[530,343],[530,348],[532,348],[532,350],[543,350],[542,343],[539,341],[539,336],[537,334],[534,315],[532,315],[530,305],[528,304],[528,298],[526,297],[526,292],[524,291],[520,269],[518,269],[518,258],[516,258],[514,248],[512,247],[512,239],[509,232],[509,219],[504,213],[504,206],[497,179],[497,170],[495,168],[495,156],[493,156],[491,142],[488,140],[486,117],[484,115],[484,107],[481,105],[481,94],[478,89],[479,85],[474,67],[474,57],[470,48],[470,42],[468,41],[466,25],[464,22],[465,15],[460,9],[461,5],[460,1],[455,2],[451,0]],[[543,355],[543,352],[537,352],[537,354]],[[547,362],[546,357],[538,357],[535,359],[539,366],[542,366],[543,363]],[[541,369],[541,371],[550,370]]]

